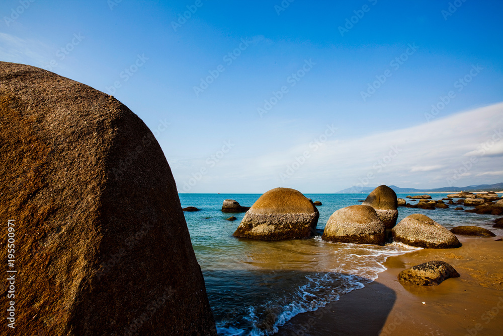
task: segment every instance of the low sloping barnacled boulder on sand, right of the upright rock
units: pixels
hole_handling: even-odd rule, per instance
[[[456,248],[458,238],[431,218],[412,214],[405,217],[391,231],[395,241],[423,248]]]

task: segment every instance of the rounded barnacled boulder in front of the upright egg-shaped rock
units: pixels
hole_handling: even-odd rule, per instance
[[[357,244],[384,244],[386,228],[374,208],[350,206],[334,212],[321,239]]]

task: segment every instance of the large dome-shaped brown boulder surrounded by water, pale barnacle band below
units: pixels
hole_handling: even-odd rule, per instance
[[[251,206],[234,236],[261,240],[307,238],[316,233],[318,218],[318,210],[302,193],[275,188]]]

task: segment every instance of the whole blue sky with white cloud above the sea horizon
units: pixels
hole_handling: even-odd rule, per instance
[[[502,11],[473,0],[5,0],[0,59],[112,93],[154,131],[180,192],[497,183]]]

